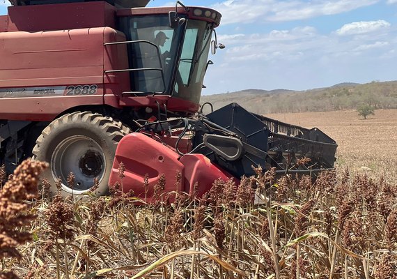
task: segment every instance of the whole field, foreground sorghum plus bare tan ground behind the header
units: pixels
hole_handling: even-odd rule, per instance
[[[397,278],[397,110],[270,116],[333,137],[336,171],[256,169],[204,197],[162,193],[161,179],[155,204],[123,185],[47,197],[46,165],[29,160],[3,174],[0,278]]]

